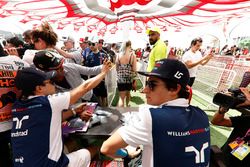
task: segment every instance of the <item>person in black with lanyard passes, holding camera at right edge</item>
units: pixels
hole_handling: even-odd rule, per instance
[[[242,106],[250,106],[250,93],[247,88],[240,88],[241,91],[246,96],[246,101],[240,104],[238,107]],[[226,143],[222,146],[222,152],[224,155],[224,163],[227,167],[247,167],[250,162],[250,154],[246,155],[243,160],[239,160],[233,154],[231,154],[232,150],[236,150],[237,148],[233,148],[230,143],[234,141],[242,141],[244,143],[249,142],[250,140],[250,116],[249,115],[241,115],[236,117],[227,117],[226,112],[227,108],[220,107],[219,110],[213,116],[211,121],[214,125],[219,126],[227,126],[233,127],[233,131]],[[231,146],[230,146],[231,145]],[[248,146],[248,150],[250,147]],[[243,153],[243,152],[241,152]]]

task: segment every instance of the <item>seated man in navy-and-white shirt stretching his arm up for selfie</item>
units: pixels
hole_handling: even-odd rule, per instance
[[[63,153],[62,111],[97,86],[109,69],[110,63],[104,62],[104,68],[99,75],[70,92],[59,94],[55,94],[52,81],[56,76],[55,71],[44,73],[35,68],[18,71],[15,83],[22,91],[23,98],[17,100],[12,108],[11,141],[14,166],[89,166],[97,149],[80,149],[67,155]],[[74,110],[67,112],[75,114]]]

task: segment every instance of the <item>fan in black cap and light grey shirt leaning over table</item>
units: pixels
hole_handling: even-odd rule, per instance
[[[64,63],[63,58],[59,58],[56,53],[51,51],[37,52],[33,62],[34,65],[42,71],[57,70],[57,76],[54,80],[57,89],[60,91],[76,88],[85,82],[85,80],[81,78],[81,75],[97,75],[103,67],[100,65],[90,68],[75,63]],[[92,90],[86,92],[82,100],[98,102]]]

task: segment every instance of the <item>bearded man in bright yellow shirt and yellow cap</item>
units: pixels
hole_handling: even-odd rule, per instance
[[[151,72],[156,61],[167,58],[167,46],[160,39],[160,29],[158,27],[147,29],[146,33],[149,37],[150,45],[153,45],[147,67],[147,71]]]

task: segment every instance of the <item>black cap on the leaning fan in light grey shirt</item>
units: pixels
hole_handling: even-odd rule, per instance
[[[35,54],[33,63],[43,71],[56,70],[63,64],[64,59],[55,56],[55,54],[47,50],[39,51]]]

